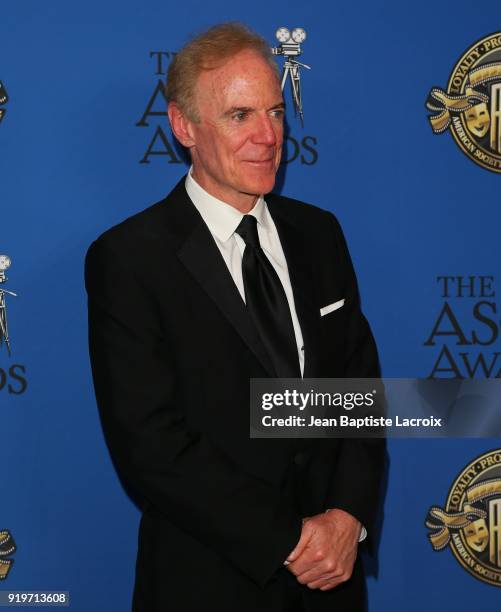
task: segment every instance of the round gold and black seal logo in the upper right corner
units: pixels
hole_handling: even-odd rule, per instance
[[[434,87],[426,107],[435,134],[450,128],[468,157],[501,172],[501,32],[470,47],[454,66],[447,90]]]

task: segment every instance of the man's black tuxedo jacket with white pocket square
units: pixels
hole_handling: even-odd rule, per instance
[[[334,216],[266,197],[305,346],[305,377],[378,375]],[[87,254],[90,355],[110,452],[141,497],[136,612],[363,609],[357,563],[326,592],[283,567],[301,518],[341,508],[371,530],[384,447],[249,438],[249,379],[273,375],[243,300],[184,179]],[[320,308],[345,299],[320,317]]]

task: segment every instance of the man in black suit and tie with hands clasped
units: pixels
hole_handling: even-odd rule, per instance
[[[86,260],[97,402],[143,510],[133,609],[363,610],[383,445],[248,434],[251,378],[378,375],[343,234],[270,193],[284,103],[263,39],[211,28],[167,97],[192,167]]]

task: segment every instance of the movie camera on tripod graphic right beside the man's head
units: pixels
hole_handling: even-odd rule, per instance
[[[290,79],[292,90],[292,101],[294,103],[294,113],[299,113],[301,124],[303,124],[303,101],[301,98],[301,66],[311,70],[310,66],[298,62],[295,57],[301,55],[301,44],[306,40],[306,32],[303,28],[294,28],[292,34],[287,28],[278,28],[275,34],[279,47],[272,47],[273,55],[283,55],[285,57],[284,69],[282,72],[282,91],[284,90],[287,77]]]

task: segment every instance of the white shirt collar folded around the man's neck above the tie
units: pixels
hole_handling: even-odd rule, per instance
[[[186,176],[186,191],[211,234],[222,242],[226,242],[233,236],[244,215],[234,206],[218,200],[205,191],[192,177],[192,169],[193,166]],[[262,195],[258,197],[248,214],[256,217],[258,224],[267,229],[266,202]]]

